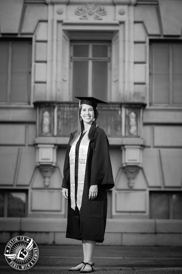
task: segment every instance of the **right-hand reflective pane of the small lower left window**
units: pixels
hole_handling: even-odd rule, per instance
[[[25,204],[25,193],[8,193],[8,217],[25,217]]]

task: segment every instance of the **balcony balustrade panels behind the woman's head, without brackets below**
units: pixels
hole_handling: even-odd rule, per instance
[[[77,129],[77,103],[36,101],[34,106],[37,110],[37,138],[69,137]],[[142,138],[145,106],[144,103],[99,104],[97,123],[108,138]],[[61,145],[61,139],[56,143]]]

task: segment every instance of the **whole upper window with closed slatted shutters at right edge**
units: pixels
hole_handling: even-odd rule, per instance
[[[182,104],[182,43],[150,44],[151,104]]]

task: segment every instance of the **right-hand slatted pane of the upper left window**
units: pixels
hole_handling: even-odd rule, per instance
[[[12,43],[11,102],[28,101],[29,43]]]

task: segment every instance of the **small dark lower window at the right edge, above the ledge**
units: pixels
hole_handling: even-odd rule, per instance
[[[182,192],[151,191],[150,219],[182,219]]]

